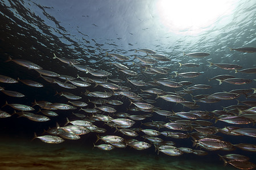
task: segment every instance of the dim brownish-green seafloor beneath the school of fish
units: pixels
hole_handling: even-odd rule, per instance
[[[0,169],[236,169],[221,161],[144,154],[131,148],[102,151],[72,143],[50,145],[35,139],[1,137]]]

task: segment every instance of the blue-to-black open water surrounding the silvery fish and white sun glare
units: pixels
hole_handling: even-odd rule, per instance
[[[123,86],[132,88],[133,92],[141,92],[139,87],[133,86],[126,81],[126,78],[134,78],[143,80],[144,82],[152,81],[152,78],[169,78],[176,82],[183,80],[192,81],[193,84],[209,84],[212,86],[208,90],[197,90],[193,95],[199,94],[213,94],[215,92],[230,91],[240,88],[255,88],[255,80],[250,84],[243,84],[236,86],[233,84],[222,83],[218,85],[216,80],[208,81],[216,75],[231,74],[237,78],[256,79],[255,74],[234,73],[234,71],[222,70],[216,66],[208,67],[207,61],[213,63],[234,63],[241,65],[243,69],[255,67],[255,53],[241,53],[230,51],[228,47],[242,47],[242,46],[256,46],[256,4],[254,1],[234,1],[233,13],[229,16],[219,17],[212,25],[205,28],[205,31],[192,34],[191,31],[182,30],[178,33],[168,32],[163,25],[158,22],[159,16],[155,12],[156,1],[0,1],[0,70],[2,75],[10,76],[11,78],[31,79],[36,82],[44,84],[43,88],[35,88],[26,86],[23,83],[3,84],[5,90],[13,90],[21,92],[26,95],[21,99],[9,97],[1,93],[1,103],[4,105],[5,101],[8,103],[20,103],[31,105],[36,99],[51,101],[52,103],[67,103],[68,99],[59,95],[55,96],[55,92],[67,91],[72,94],[82,96],[81,101],[88,102],[88,97],[81,95],[81,92],[89,91],[104,91],[104,88],[93,86],[82,88],[77,87],[75,90],[67,90],[51,84],[40,78],[35,70],[27,69],[16,65],[14,62],[5,62],[11,56],[12,58],[26,59],[32,61],[46,70],[54,71],[63,75],[70,75],[76,77],[92,75],[77,71],[74,67],[68,66],[57,59],[53,59],[53,53],[57,57],[65,57],[69,59],[76,59],[81,65],[86,65],[94,69],[101,69],[109,71],[112,76],[109,78],[119,78],[125,81]],[[188,14],[189,15],[189,14]],[[143,73],[142,69],[133,65],[133,62],[139,63],[138,59],[133,59],[134,55],[145,56],[144,53],[135,53],[135,50],[148,48],[155,50],[158,54],[164,54],[171,59],[168,62],[158,62],[153,66],[169,67],[170,71],[167,75],[148,75]],[[130,57],[131,59],[122,62],[131,70],[136,71],[138,76],[129,76],[117,71],[113,65],[109,66],[109,62],[116,62],[110,56],[105,56],[108,53],[117,53]],[[191,58],[183,56],[183,53],[190,52],[207,52],[210,56],[205,58]],[[196,68],[179,67],[178,62],[196,62],[200,66]],[[200,71],[203,74],[191,79],[181,78],[175,75],[174,71],[179,73],[189,71]],[[192,84],[192,85],[193,85]],[[151,88],[149,86],[142,87],[143,90]],[[168,88],[158,86],[164,91],[175,92],[183,90],[182,88]],[[108,90],[107,90],[108,91]],[[92,99],[92,98],[90,98]],[[126,111],[129,108],[129,100],[125,97],[112,96],[112,99],[122,100],[123,105],[115,107],[118,112],[127,112],[130,114],[141,114],[142,112]],[[151,98],[154,100],[154,97]],[[185,96],[185,99],[192,101],[191,96]],[[244,95],[240,96],[238,100],[255,100],[253,98],[246,99]],[[170,103],[163,99],[157,99],[155,107],[160,107],[163,110],[181,112],[190,111],[189,108],[184,108],[180,104]],[[88,103],[88,108],[93,108],[92,103]],[[229,105],[236,105],[237,100],[222,100],[218,103],[204,104],[197,103],[200,108],[196,110],[214,111],[215,109],[222,109]],[[39,107],[35,106],[35,112]],[[2,109],[8,113],[13,113],[13,109],[5,107]],[[56,111],[59,116],[51,117],[48,122],[33,122],[27,118],[14,115],[9,118],[2,118],[0,120],[0,135],[2,138],[10,138],[15,141],[18,139],[30,141],[34,137],[34,132],[42,134],[43,129],[48,127],[55,127],[56,122],[61,126],[65,124],[65,118],[75,119],[72,111]],[[84,113],[82,111],[74,111],[76,113]],[[151,121],[165,121],[163,116],[154,114],[153,117],[147,118],[142,122]],[[210,120],[214,122],[214,120]],[[105,134],[113,134],[114,129],[104,125],[104,122],[95,122],[94,125],[107,129]],[[214,126],[224,128],[224,126],[233,126],[224,122],[218,121]],[[234,125],[236,126],[236,125]],[[133,128],[144,128],[141,122],[133,126]],[[241,127],[253,128],[252,124],[241,125]],[[156,129],[157,130],[157,129]],[[166,129],[167,130],[167,129]],[[160,130],[164,131],[164,130]],[[194,130],[195,131],[195,130]],[[141,135],[143,135],[141,133]],[[223,137],[223,141],[229,141],[232,144],[237,143],[251,143],[256,145],[253,137],[246,136],[230,136],[218,133]],[[192,147],[191,138],[189,139],[172,139],[161,137],[164,140],[171,140],[176,143],[177,147]],[[140,141],[143,138],[137,137]],[[61,145],[76,145],[85,146],[85,148],[93,147],[93,142],[96,141],[96,133],[89,133],[82,135],[79,141],[68,141]],[[40,145],[40,142],[38,142]],[[43,144],[45,145],[45,144]],[[197,148],[199,149],[199,148]],[[167,155],[162,153],[158,156],[155,153],[155,148],[151,147],[144,151],[137,151],[133,148],[117,149],[117,151],[110,152],[112,155],[118,155],[118,152],[126,152],[131,156],[152,156],[155,161],[161,159],[169,159]],[[92,151],[97,152],[98,151]],[[103,152],[103,151],[102,151]],[[176,160],[198,161],[200,164],[207,166],[208,163],[221,165],[222,162],[218,160],[217,153],[220,155],[228,154],[225,151],[208,151],[207,156],[195,156],[184,154]],[[249,156],[250,161],[256,163],[256,157],[253,152],[242,151],[237,149],[232,153]],[[228,165],[230,167],[230,165]],[[159,167],[161,168],[161,167]],[[209,167],[208,167],[209,168]],[[184,169],[189,169],[184,167]],[[213,168],[214,169],[214,168]]]

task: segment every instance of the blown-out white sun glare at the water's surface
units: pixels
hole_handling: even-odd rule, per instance
[[[220,16],[232,13],[234,0],[159,0],[160,22],[168,31],[199,33]]]

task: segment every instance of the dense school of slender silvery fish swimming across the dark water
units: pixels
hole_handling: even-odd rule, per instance
[[[246,53],[255,53],[256,48],[243,47],[232,48],[238,55],[246,56]],[[242,52],[242,53],[241,53]],[[210,54],[206,52],[184,53],[185,57],[194,57],[197,59],[207,57]],[[75,69],[77,75],[62,75],[61,70],[57,73],[44,70],[33,61],[27,61],[19,58],[6,58],[6,62],[15,64],[36,71],[38,75],[45,80],[45,84],[35,82],[30,79],[11,78],[9,75],[0,75],[0,91],[2,97],[24,97],[18,91],[5,90],[6,83],[23,83],[31,88],[42,88],[51,86],[60,97],[65,97],[67,102],[58,103],[51,101],[34,101],[31,105],[12,103],[6,101],[2,105],[0,118],[6,117],[25,117],[35,122],[50,121],[51,117],[59,116],[61,110],[69,111],[67,114],[67,123],[44,130],[42,135],[34,134],[35,138],[46,143],[61,143],[64,140],[77,140],[81,135],[94,133],[97,141],[93,143],[94,147],[109,151],[114,148],[125,148],[130,146],[136,150],[145,150],[155,147],[157,154],[170,156],[179,156],[182,154],[207,155],[211,151],[226,151],[226,155],[220,155],[224,164],[233,165],[238,169],[253,169],[254,163],[249,162],[249,157],[238,154],[229,154],[229,151],[236,149],[256,152],[256,145],[250,143],[235,143],[235,141],[222,140],[220,133],[224,135],[237,135],[256,137],[256,129],[253,125],[256,120],[256,88],[237,88],[243,84],[249,84],[255,79],[245,79],[237,77],[236,73],[256,74],[256,67],[244,69],[234,63],[212,63],[208,61],[205,65],[209,67],[218,67],[217,69],[233,70],[234,74],[216,75],[210,80],[217,80],[222,83],[229,83],[234,87],[232,91],[218,91],[214,94],[207,93],[212,88],[208,84],[198,84],[192,82],[193,78],[203,76],[203,70],[181,73],[178,70],[172,70],[171,67],[156,67],[154,64],[171,61],[171,58],[163,54],[157,54],[151,49],[135,50],[134,58],[126,57],[121,54],[106,53],[106,58],[114,58],[116,62],[110,62],[110,66],[115,68],[115,72],[109,70],[100,70],[83,65],[76,59],[68,59],[52,54],[52,60],[58,61],[62,65],[71,66]],[[137,72],[126,66],[122,62],[133,62],[133,68],[141,70]],[[199,67],[199,63],[177,63],[180,67]],[[110,67],[109,66],[109,67]],[[82,75],[88,75],[86,77]],[[122,79],[115,78],[115,75],[121,75]],[[141,79],[142,75],[151,78],[151,81],[145,82]],[[155,79],[153,75],[171,74],[171,79]],[[181,76],[183,81],[176,82],[176,77]],[[192,84],[193,83],[193,84]],[[192,84],[192,85],[191,85]],[[237,85],[237,86],[235,86]],[[101,91],[88,90],[88,87],[98,87]],[[72,89],[79,89],[80,94],[72,93]],[[168,91],[163,90],[168,89]],[[195,90],[205,90],[205,94],[192,95]],[[246,100],[240,101],[239,97],[245,96]],[[200,103],[217,103],[221,100],[237,100],[237,105],[230,105],[214,111],[203,111],[200,109]],[[190,111],[174,112],[173,108],[163,110],[156,107],[158,103],[176,103],[183,105],[183,108],[189,108]],[[126,112],[118,112],[118,107],[124,107]],[[13,113],[7,113],[6,107],[13,108]],[[9,108],[10,109],[10,108]],[[209,108],[210,109],[210,108]],[[159,116],[165,121],[151,120],[150,117]],[[216,122],[223,122],[221,127],[215,126]],[[97,126],[94,125],[97,123]],[[99,126],[100,125],[100,126]],[[248,125],[246,128],[241,125]],[[104,126],[113,128],[108,131]],[[240,127],[241,126],[241,127]],[[134,128],[136,127],[136,128]],[[43,129],[42,129],[43,131]],[[175,139],[192,139],[191,147],[176,147]],[[241,137],[242,138],[242,137]],[[102,143],[98,142],[101,141]]]

